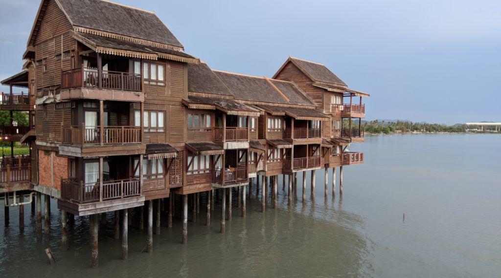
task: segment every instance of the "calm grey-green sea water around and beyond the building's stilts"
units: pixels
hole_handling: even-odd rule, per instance
[[[197,222],[188,222],[188,244],[180,243],[181,222],[174,218],[172,228],[154,235],[152,254],[141,253],[147,234],[136,228],[133,215],[126,261],[120,259],[121,240],[113,239],[109,213],[100,230],[98,269],[89,267],[88,219],[76,219],[69,230],[71,249],[62,252],[55,201],[50,241],[36,237],[29,205],[22,234],[17,208],[11,208],[4,228],[2,207],[0,276],[499,277],[500,142],[496,134],[368,136],[350,147],[364,151],[366,161],[345,167],[342,198],[339,193],[332,198],[331,175],[324,197],[319,170],[315,200],[308,176],[307,201],[301,200],[299,185],[289,207],[280,179],[278,209],[268,202],[262,213],[254,198],[242,218],[233,207],[225,234],[219,233],[219,206],[210,227],[202,209]],[[55,265],[45,255],[48,246]]]

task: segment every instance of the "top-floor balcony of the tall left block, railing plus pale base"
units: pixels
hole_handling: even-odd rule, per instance
[[[61,99],[144,101],[141,74],[84,67],[61,72]]]

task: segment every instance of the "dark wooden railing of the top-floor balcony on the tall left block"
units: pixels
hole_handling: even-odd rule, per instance
[[[110,70],[103,70],[99,75],[97,68],[82,66],[61,72],[61,88],[88,87],[141,91],[141,79],[141,74]]]

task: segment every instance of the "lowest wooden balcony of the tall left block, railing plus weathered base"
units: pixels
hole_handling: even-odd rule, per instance
[[[138,178],[84,183],[76,178],[61,180],[58,207],[76,215],[88,215],[142,205],[141,181]]]

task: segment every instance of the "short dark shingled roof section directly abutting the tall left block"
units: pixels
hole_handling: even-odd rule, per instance
[[[188,91],[233,97],[228,87],[204,62],[188,64]]]

